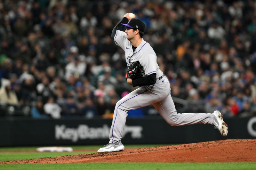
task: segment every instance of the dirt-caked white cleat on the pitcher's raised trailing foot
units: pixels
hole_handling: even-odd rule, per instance
[[[222,136],[228,135],[228,125],[222,119],[223,115],[221,115],[219,110],[215,110],[213,112],[213,125],[215,129],[219,129]]]

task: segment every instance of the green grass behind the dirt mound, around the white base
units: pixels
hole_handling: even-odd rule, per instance
[[[166,144],[165,144],[166,145]],[[161,144],[146,144],[146,145],[125,145],[126,149],[131,148],[145,148],[145,147],[155,147],[163,146]],[[90,149],[92,151],[86,152],[25,152],[25,151],[36,151],[36,146],[34,147],[6,147],[0,148],[0,161],[9,161],[9,160],[24,160],[24,159],[37,159],[44,157],[56,157],[64,155],[77,155],[84,153],[95,153],[102,145],[88,145],[88,146],[68,146],[76,149]],[[10,151],[10,152],[8,152]],[[24,152],[13,152],[13,151],[24,151]]]

